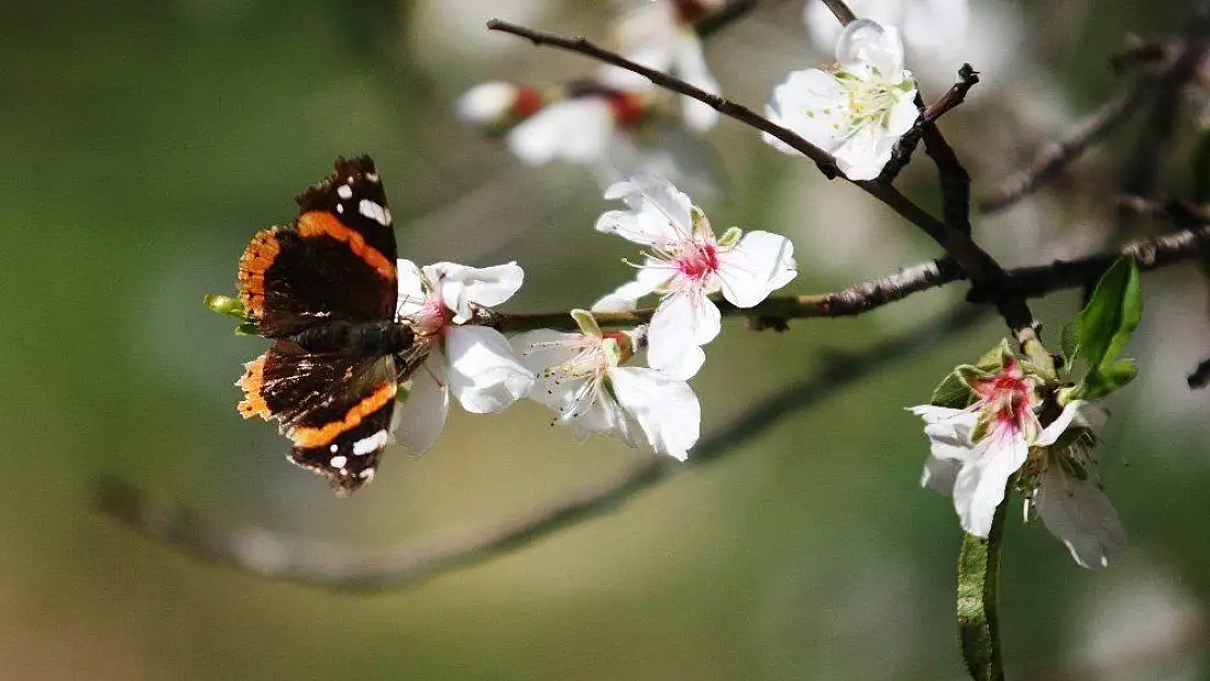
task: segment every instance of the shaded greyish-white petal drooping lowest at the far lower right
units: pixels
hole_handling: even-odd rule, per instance
[[[1125,550],[1127,535],[1110,497],[1090,480],[1068,477],[1051,463],[1033,492],[1038,516],[1067,546],[1083,567],[1108,567],[1110,556]]]

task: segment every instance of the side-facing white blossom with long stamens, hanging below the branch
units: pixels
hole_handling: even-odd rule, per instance
[[[537,375],[530,398],[558,412],[577,439],[604,433],[630,446],[684,461],[697,443],[702,409],[688,383],[641,367],[634,335],[603,333],[592,314],[572,311],[581,333],[549,329],[513,336],[520,363]]]

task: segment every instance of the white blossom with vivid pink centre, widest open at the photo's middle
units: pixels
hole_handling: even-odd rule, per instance
[[[639,175],[605,190],[627,210],[610,210],[597,230],[647,248],[635,281],[593,306],[629,310],[649,294],[659,295],[651,318],[647,363],[676,379],[697,374],[705,360],[703,345],[721,330],[719,307],[710,295],[737,307],[751,307],[797,276],[794,244],[765,231],[743,233],[731,227],[715,236],[710,221],[672,183]]]

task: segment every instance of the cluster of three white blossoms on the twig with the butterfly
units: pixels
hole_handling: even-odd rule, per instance
[[[409,356],[419,367],[401,386],[391,429],[413,454],[437,443],[453,396],[468,412],[492,414],[522,398],[558,412],[555,422],[577,438],[604,433],[678,460],[698,439],[701,406],[687,381],[704,362],[703,345],[720,331],[714,294],[750,307],[795,276],[794,248],[768,232],[732,227],[714,235],[705,214],[667,180],[636,177],[618,183],[610,210],[597,224],[649,250],[635,281],[598,302],[598,311],[633,310],[658,295],[651,323],[605,331],[593,313],[574,310],[578,333],[536,329],[506,337],[492,308],[524,281],[515,262],[469,267],[399,260],[394,321],[410,329]],[[211,296],[217,312],[247,322],[242,304]],[[647,365],[636,365],[646,354]],[[384,433],[384,438],[386,433]]]

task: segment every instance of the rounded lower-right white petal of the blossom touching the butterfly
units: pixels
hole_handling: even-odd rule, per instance
[[[517,362],[508,339],[496,329],[453,327],[445,351],[450,391],[472,414],[502,411],[534,387],[534,374]]]

